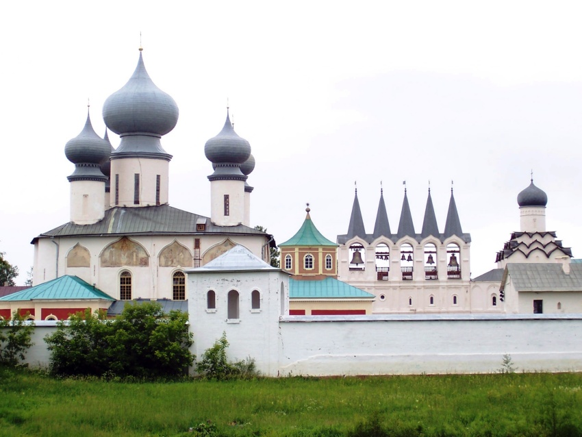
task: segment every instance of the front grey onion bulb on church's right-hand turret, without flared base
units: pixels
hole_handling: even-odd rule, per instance
[[[242,164],[251,155],[251,145],[234,132],[227,112],[223,130],[214,138],[207,140],[204,153],[206,158],[214,164]]]

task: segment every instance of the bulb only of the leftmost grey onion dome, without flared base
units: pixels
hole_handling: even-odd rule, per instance
[[[109,159],[111,145],[95,133],[87,112],[85,127],[79,135],[68,140],[64,147],[66,158],[73,164],[97,164],[100,166]]]

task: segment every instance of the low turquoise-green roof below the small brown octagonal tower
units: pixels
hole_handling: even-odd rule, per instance
[[[289,297],[290,299],[341,299],[360,297],[371,299],[374,297],[359,288],[350,284],[338,281],[333,277],[314,281],[297,281],[289,279]]]

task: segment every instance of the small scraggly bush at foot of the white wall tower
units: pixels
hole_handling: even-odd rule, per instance
[[[246,360],[228,362],[227,347],[229,347],[227,334],[223,332],[223,335],[214,342],[214,345],[203,353],[202,360],[196,364],[196,371],[203,377],[216,379],[216,381],[235,378],[251,379],[259,376],[253,358],[248,357]]]

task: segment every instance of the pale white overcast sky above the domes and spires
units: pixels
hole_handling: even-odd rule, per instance
[[[396,232],[407,181],[417,232],[428,180],[441,232],[451,179],[475,277],[519,230],[518,192],[582,256],[582,3],[537,1],[29,1],[0,6],[0,251],[22,284],[34,236],[68,221],[77,136],[138,60],[178,103],[162,138],[170,205],[210,216],[204,144],[229,99],[257,161],[252,225],[277,242],[305,217],[345,234],[357,180],[366,232],[383,181]],[[110,133],[113,145],[118,137]]]

